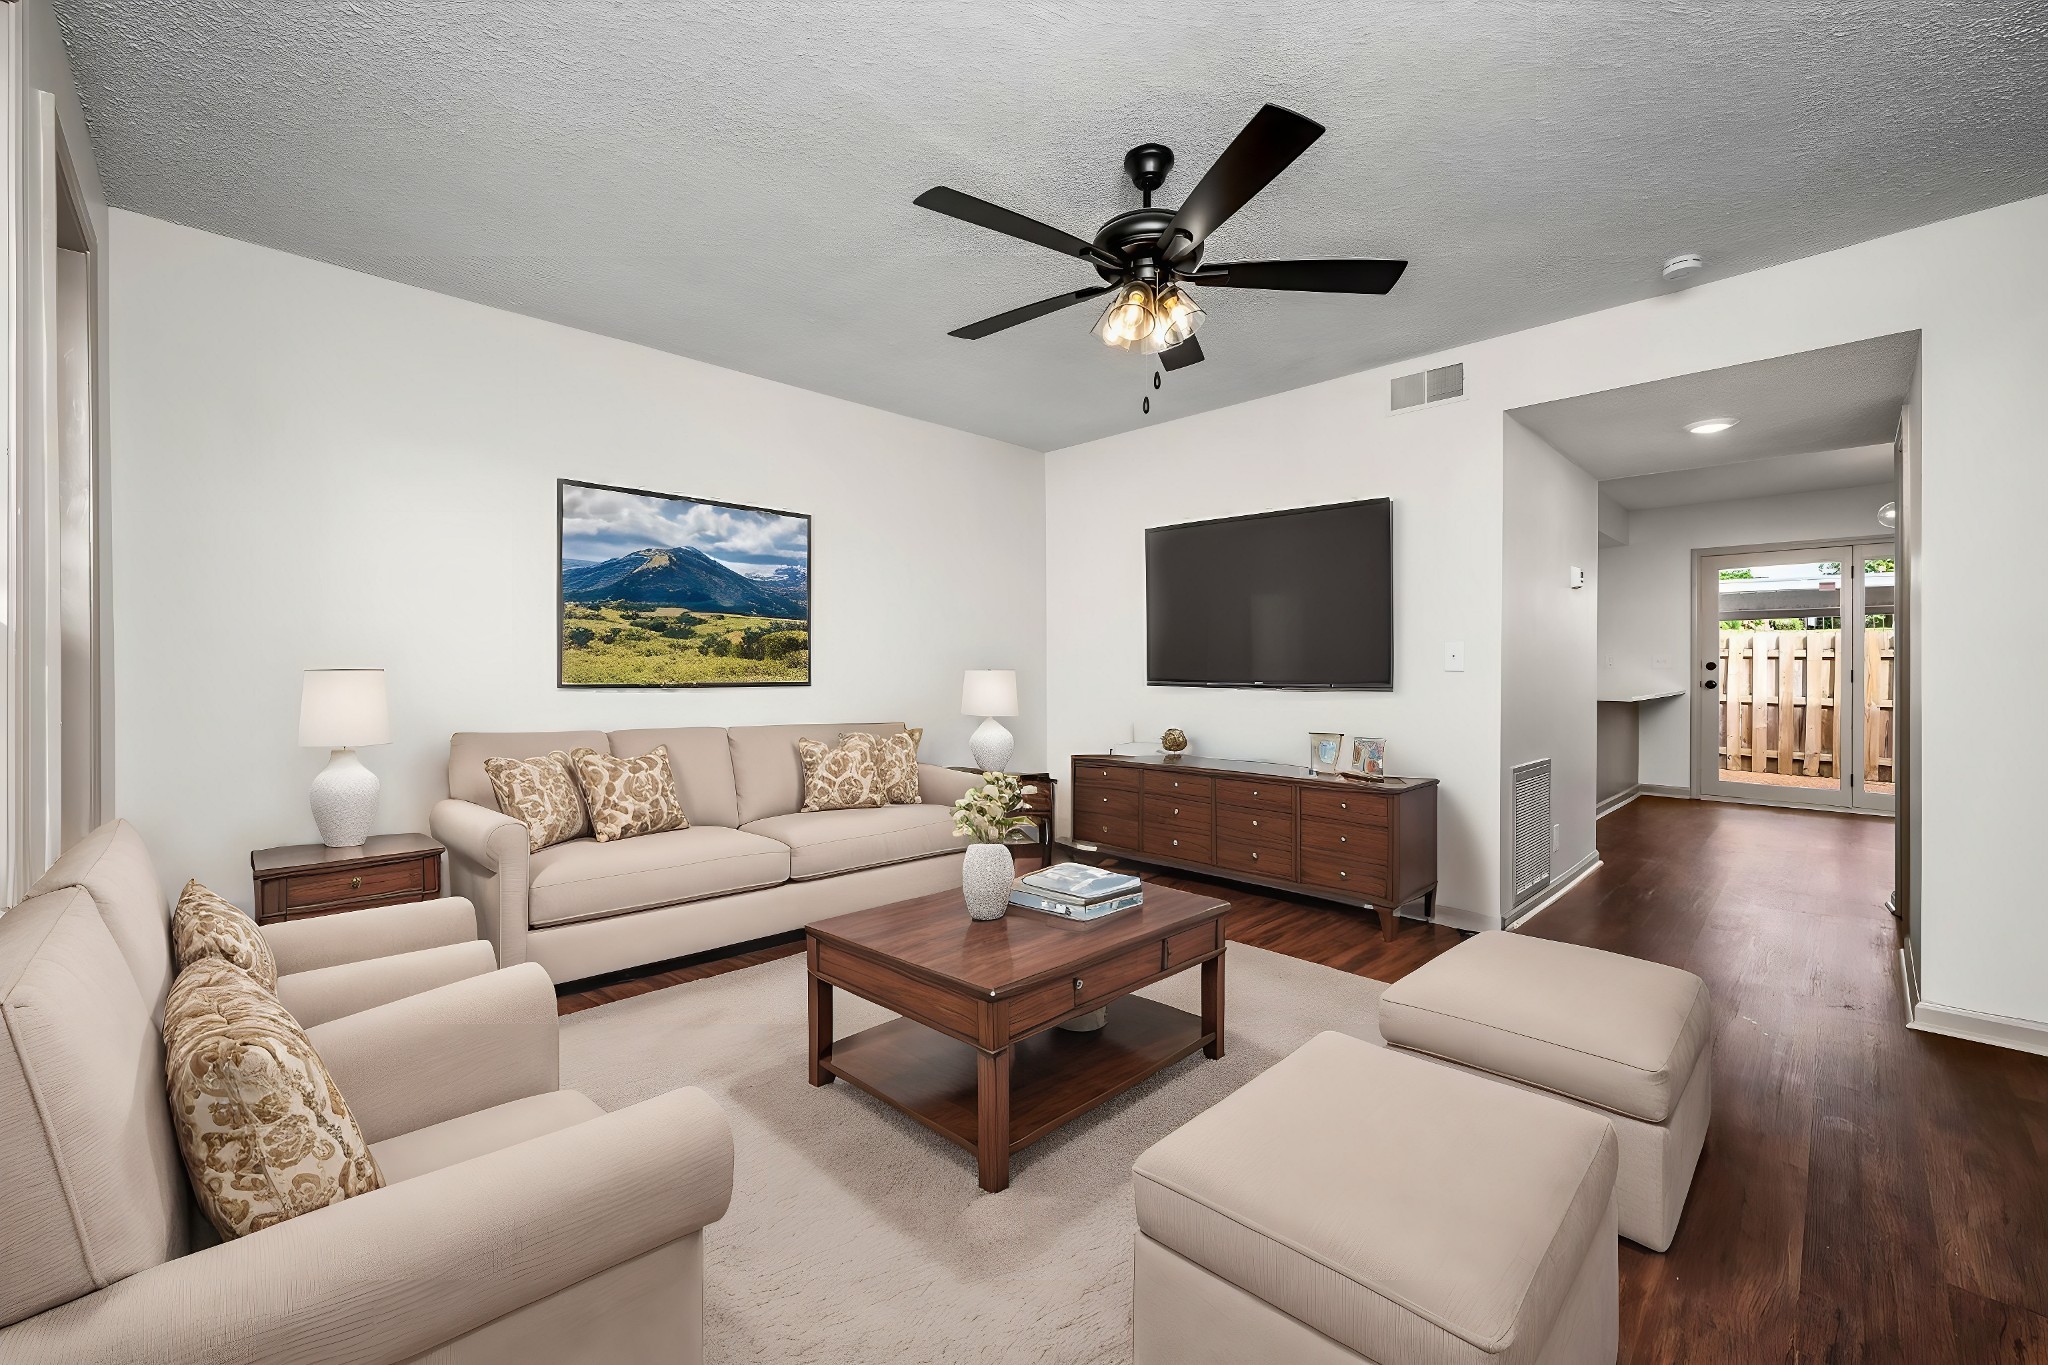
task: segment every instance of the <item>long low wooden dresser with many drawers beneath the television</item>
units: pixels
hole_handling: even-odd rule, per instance
[[[1290,763],[1075,755],[1073,839],[1104,853],[1378,911],[1436,913],[1436,778]]]

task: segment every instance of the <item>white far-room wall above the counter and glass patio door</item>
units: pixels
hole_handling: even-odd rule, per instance
[[[1692,553],[1786,540],[1878,540],[1892,485],[1651,508],[1630,514],[1628,544],[1599,553],[1602,694],[1686,688],[1645,702],[1638,782],[1692,786],[1694,706],[1706,696],[1692,667]],[[1659,667],[1661,665],[1661,667]]]

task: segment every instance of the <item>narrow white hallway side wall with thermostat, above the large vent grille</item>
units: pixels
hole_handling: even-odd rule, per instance
[[[1599,493],[1593,477],[1513,417],[1505,426],[1501,534],[1501,841],[1511,845],[1509,769],[1550,759],[1550,876],[1593,857],[1599,804],[1597,663]],[[1571,587],[1571,569],[1585,587]],[[1513,905],[1511,847],[1501,905]]]

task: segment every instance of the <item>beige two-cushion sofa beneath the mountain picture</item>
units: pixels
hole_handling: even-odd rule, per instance
[[[449,800],[432,831],[451,888],[504,966],[539,962],[557,982],[727,948],[813,919],[961,884],[950,806],[977,778],[920,763],[922,804],[803,812],[799,739],[895,733],[901,722],[748,724],[672,731],[457,735]],[[588,747],[637,757],[668,745],[688,829],[530,853],[498,810],[483,761]]]

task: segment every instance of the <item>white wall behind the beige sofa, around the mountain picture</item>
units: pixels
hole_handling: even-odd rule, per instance
[[[119,812],[248,905],[313,841],[299,671],[389,669],[377,827],[457,729],[879,720],[967,761],[961,671],[1044,735],[1040,456],[334,266],[113,215]],[[813,684],[555,688],[555,479],[813,516]],[[995,569],[987,561],[995,561]]]

